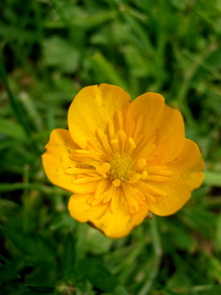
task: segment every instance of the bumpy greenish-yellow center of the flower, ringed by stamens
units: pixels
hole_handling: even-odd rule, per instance
[[[132,170],[133,168],[133,161],[131,157],[127,156],[126,154],[120,155],[116,153],[112,158],[109,159],[110,163],[110,170],[108,174],[110,175],[110,179],[120,179],[125,180],[131,177],[131,174],[134,173]]]

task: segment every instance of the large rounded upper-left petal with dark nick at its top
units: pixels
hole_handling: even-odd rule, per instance
[[[105,133],[108,121],[114,120],[119,111],[125,115],[129,105],[130,96],[118,86],[100,84],[83,88],[68,111],[72,139],[81,148],[87,148],[88,139],[98,141],[96,130]]]

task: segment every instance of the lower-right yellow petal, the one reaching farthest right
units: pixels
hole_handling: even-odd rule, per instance
[[[184,147],[174,161],[168,164],[167,171],[173,173],[166,182],[149,182],[166,196],[154,196],[156,202],[148,202],[150,210],[166,216],[177,212],[190,198],[191,191],[203,181],[204,163],[199,148],[192,140],[185,139]]]

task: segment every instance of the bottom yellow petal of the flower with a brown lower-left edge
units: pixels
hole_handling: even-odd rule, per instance
[[[148,213],[146,204],[140,207],[140,210],[134,215],[128,214],[124,198],[116,195],[114,200],[114,213],[111,212],[110,205],[99,204],[91,206],[87,204],[87,200],[91,194],[73,194],[70,197],[68,209],[70,215],[80,222],[91,222],[101,230],[107,237],[119,238],[127,235],[133,227],[140,224]]]

